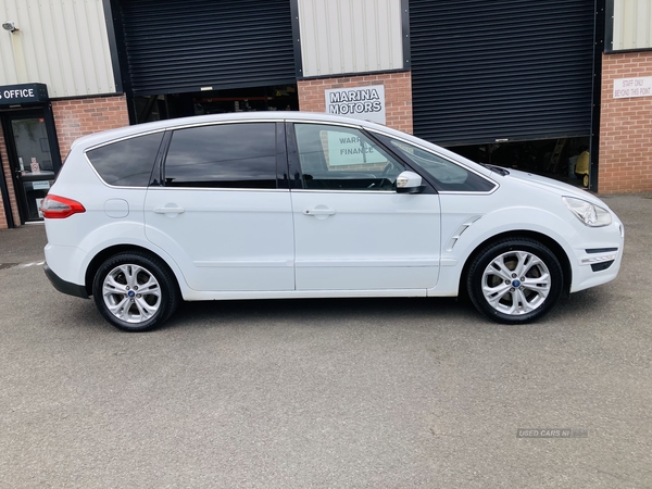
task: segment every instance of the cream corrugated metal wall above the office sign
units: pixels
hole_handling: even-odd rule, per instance
[[[102,0],[0,0],[0,85],[43,83],[51,98],[114,93]]]

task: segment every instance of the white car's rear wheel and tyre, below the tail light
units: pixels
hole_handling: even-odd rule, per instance
[[[124,331],[161,326],[180,300],[176,279],[165,263],[137,251],[115,254],[102,263],[92,296],[102,316]]]

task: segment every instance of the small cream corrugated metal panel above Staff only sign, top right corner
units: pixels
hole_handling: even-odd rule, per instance
[[[652,48],[652,0],[614,0],[613,23],[612,50]]]

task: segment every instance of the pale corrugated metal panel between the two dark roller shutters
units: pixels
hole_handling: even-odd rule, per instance
[[[403,68],[400,0],[299,0],[303,76]]]

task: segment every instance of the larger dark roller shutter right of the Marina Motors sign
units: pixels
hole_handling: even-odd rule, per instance
[[[410,0],[414,134],[589,136],[594,22],[593,0]]]

